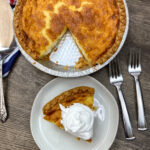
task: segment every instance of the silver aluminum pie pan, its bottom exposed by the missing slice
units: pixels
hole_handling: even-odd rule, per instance
[[[17,37],[16,43],[21,51],[21,53],[24,55],[24,57],[36,68],[39,70],[59,77],[79,77],[79,76],[85,76],[91,73],[94,73],[100,69],[102,69],[104,66],[109,64],[115,56],[120,52],[126,37],[128,33],[129,28],[129,13],[127,8],[127,3],[125,0],[123,0],[124,6],[125,6],[125,12],[126,12],[126,26],[125,31],[122,37],[122,41],[120,42],[120,45],[117,49],[117,51],[103,64],[96,65],[94,67],[86,67],[83,69],[75,69],[74,63],[78,61],[79,57],[81,57],[81,54],[78,51],[78,47],[74,43],[71,34],[67,32],[59,44],[57,45],[56,49],[57,51],[53,51],[50,55],[50,60],[40,60],[35,61],[31,56],[29,56],[26,51],[21,47]],[[58,62],[59,61],[59,62]]]

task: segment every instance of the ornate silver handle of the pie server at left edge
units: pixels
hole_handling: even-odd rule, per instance
[[[5,122],[7,119],[7,111],[4,100],[4,92],[3,92],[3,75],[2,75],[2,66],[3,60],[0,60],[0,119],[2,122]]]

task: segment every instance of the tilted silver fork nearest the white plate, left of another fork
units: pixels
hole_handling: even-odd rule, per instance
[[[129,114],[127,111],[126,103],[123,97],[123,93],[121,91],[121,85],[123,82],[123,77],[121,74],[120,67],[118,65],[118,59],[115,59],[109,64],[109,75],[110,75],[110,83],[117,88],[118,96],[120,99],[122,115],[123,115],[123,123],[125,129],[125,137],[127,140],[135,139],[132,131],[132,126],[129,118]]]

